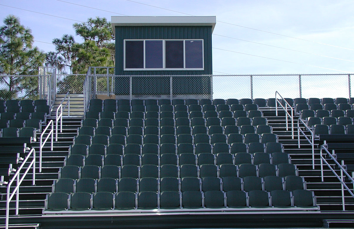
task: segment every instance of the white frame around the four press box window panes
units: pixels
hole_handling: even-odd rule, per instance
[[[126,68],[126,41],[143,41],[143,68]],[[145,41],[162,41],[162,68],[145,67]],[[166,41],[183,41],[183,68],[166,68]],[[202,68],[185,67],[185,41],[202,41]],[[124,71],[194,71],[204,70],[204,39],[124,39],[123,40],[123,66]]]

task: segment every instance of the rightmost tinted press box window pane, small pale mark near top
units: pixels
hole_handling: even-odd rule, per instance
[[[202,41],[185,41],[185,67],[203,67],[203,45]]]

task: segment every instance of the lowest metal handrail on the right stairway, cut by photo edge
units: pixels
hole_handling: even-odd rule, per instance
[[[344,187],[347,189],[349,194],[354,198],[354,180],[353,178],[348,174],[348,172],[342,167],[341,164],[338,163],[338,161],[332,156],[332,154],[328,151],[328,149],[325,147],[326,145],[321,146],[320,150],[320,158],[321,158],[321,181],[323,182],[323,162],[330,168],[330,170],[333,172],[333,174],[338,178],[338,180],[342,183],[342,205],[343,205],[343,211],[346,210],[346,207],[344,205]],[[322,149],[326,151],[326,153],[330,156],[330,158],[338,165],[339,169],[341,170],[341,177],[337,175],[337,173],[332,169],[331,165],[326,161],[326,159],[322,156]],[[343,178],[343,173],[348,177],[348,179],[353,183],[353,192],[348,188],[346,183],[344,183],[344,178]]]

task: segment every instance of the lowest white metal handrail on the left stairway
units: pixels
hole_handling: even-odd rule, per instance
[[[31,161],[31,163],[28,165],[26,171],[24,172],[24,174],[22,175],[21,179],[19,177],[20,171],[23,168],[24,164],[27,162],[28,158],[30,157],[30,155],[33,153],[33,159]],[[28,171],[31,169],[33,165],[33,175],[32,175],[32,185],[35,185],[35,174],[36,174],[36,151],[34,148],[32,148],[27,157],[23,160],[22,164],[20,165],[20,167],[17,169],[17,172],[15,173],[15,175],[13,175],[11,181],[8,182],[7,185],[7,195],[6,195],[6,229],[8,229],[8,217],[9,217],[9,212],[10,212],[10,201],[12,200],[13,196],[15,195],[16,192],[16,215],[18,215],[18,201],[19,201],[19,186],[22,183],[23,179],[25,178],[25,176],[27,175]],[[15,181],[15,179],[17,180],[17,184],[15,189],[12,191],[11,195],[10,195],[10,188],[11,188],[11,184],[13,183],[13,181]]]

